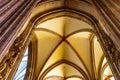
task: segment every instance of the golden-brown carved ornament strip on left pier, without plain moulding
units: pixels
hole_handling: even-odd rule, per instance
[[[26,46],[24,42],[26,41],[26,36],[24,33],[18,37],[12,47],[9,49],[7,55],[3,58],[0,63],[0,80],[4,80],[8,77],[13,65],[15,64],[17,58],[21,56],[20,52],[23,51],[23,47]]]

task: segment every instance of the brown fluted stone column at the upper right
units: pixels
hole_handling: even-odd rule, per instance
[[[107,35],[120,52],[120,0],[93,0]]]

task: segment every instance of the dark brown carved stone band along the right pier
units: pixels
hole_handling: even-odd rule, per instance
[[[100,38],[101,45],[104,50],[107,62],[112,70],[112,73],[116,80],[120,79],[120,52],[116,48],[111,38],[104,32],[103,29],[99,28],[97,34]]]

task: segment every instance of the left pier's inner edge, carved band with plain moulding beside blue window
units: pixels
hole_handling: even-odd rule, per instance
[[[0,63],[0,80],[13,80],[13,77],[24,56],[24,52],[31,39],[32,27],[27,27],[24,32],[14,41],[7,55]]]

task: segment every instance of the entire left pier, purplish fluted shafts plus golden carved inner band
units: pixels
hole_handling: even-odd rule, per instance
[[[18,37],[40,0],[0,0],[0,80],[12,80],[30,41],[32,27]]]

